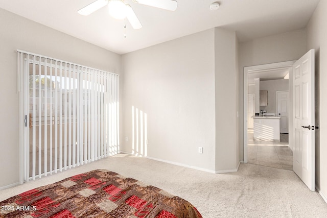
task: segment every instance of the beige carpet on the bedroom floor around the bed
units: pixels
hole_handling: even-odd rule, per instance
[[[327,217],[327,204],[293,171],[241,164],[236,173],[210,174],[147,158],[117,155],[0,190],[0,201],[97,168],[141,180],[182,197],[203,217]]]

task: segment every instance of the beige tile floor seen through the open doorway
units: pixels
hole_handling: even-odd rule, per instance
[[[248,163],[293,170],[293,152],[288,147],[288,134],[281,133],[281,141],[253,140],[248,129]]]

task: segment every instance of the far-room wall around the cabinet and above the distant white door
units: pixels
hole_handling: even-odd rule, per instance
[[[266,80],[260,81],[260,90],[268,90],[267,106],[260,106],[260,110],[266,110],[267,113],[276,114],[276,91],[288,91],[289,80]]]

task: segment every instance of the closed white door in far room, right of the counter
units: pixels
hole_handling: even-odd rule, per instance
[[[277,115],[281,117],[279,130],[281,133],[288,133],[288,91],[277,92]]]

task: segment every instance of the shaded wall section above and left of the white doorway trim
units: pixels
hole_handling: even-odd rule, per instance
[[[243,96],[243,68],[261,64],[297,60],[306,53],[304,29],[240,42],[239,44],[239,90]],[[239,99],[243,112],[243,98]],[[240,158],[243,160],[243,113],[240,113]]]

